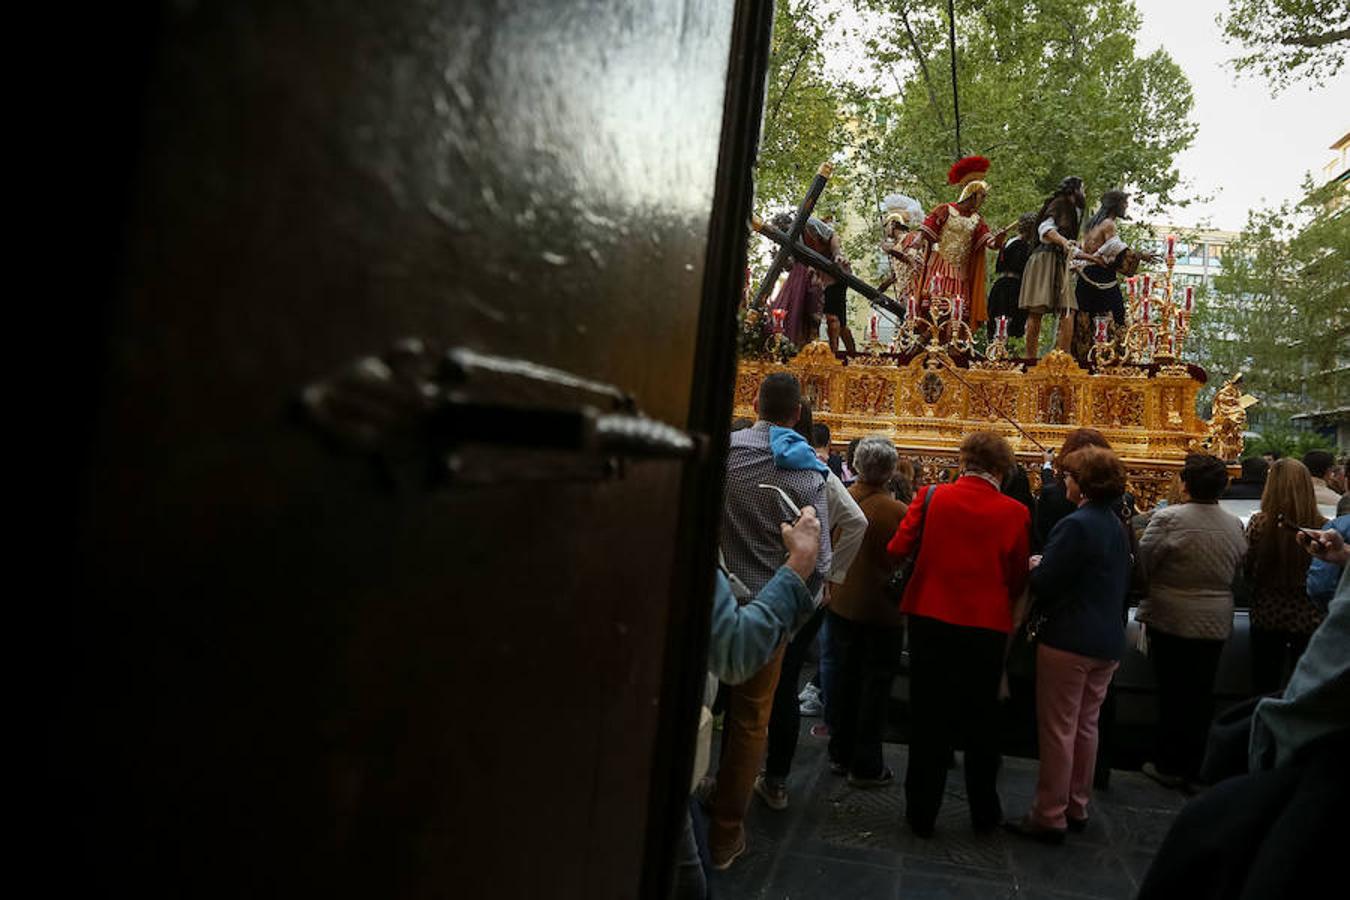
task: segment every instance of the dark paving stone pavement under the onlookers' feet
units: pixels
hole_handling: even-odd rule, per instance
[[[959,766],[948,776],[937,833],[925,841],[903,823],[907,749],[886,745],[895,784],[857,791],[830,773],[825,739],[809,733],[817,722],[802,722],[788,808],[751,801],[748,850],[714,873],[717,900],[1129,899],[1185,803],[1138,772],[1116,770],[1110,788],[1094,793],[1087,831],[1050,847],[1002,830],[975,834]],[[1034,760],[1004,758],[999,793],[1008,818],[1029,807],[1035,769]]]

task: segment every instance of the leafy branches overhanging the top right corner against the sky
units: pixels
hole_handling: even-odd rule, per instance
[[[1224,39],[1245,50],[1233,66],[1261,74],[1276,92],[1303,78],[1322,84],[1350,53],[1345,0],[1228,0],[1218,22]]]

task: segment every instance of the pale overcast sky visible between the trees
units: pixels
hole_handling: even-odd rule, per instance
[[[824,3],[849,24],[860,18],[849,0]],[[1320,88],[1296,84],[1272,97],[1264,80],[1238,78],[1224,65],[1235,55],[1215,24],[1224,0],[1135,0],[1135,7],[1143,19],[1135,53],[1162,46],[1191,80],[1199,131],[1176,165],[1191,193],[1211,197],[1166,219],[1238,231],[1249,209],[1299,198],[1304,174],[1319,174],[1331,143],[1350,131],[1350,69]],[[863,62],[861,47],[848,40],[828,42],[825,51],[833,77]]]

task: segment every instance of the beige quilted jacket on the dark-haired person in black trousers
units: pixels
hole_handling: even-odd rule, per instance
[[[1139,538],[1149,592],[1137,618],[1176,637],[1226,641],[1233,580],[1247,538],[1218,503],[1181,503],[1153,514]]]

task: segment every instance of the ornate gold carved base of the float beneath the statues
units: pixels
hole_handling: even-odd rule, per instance
[[[1125,460],[1141,510],[1165,497],[1187,453],[1210,449],[1211,436],[1224,426],[1196,416],[1202,382],[1184,366],[1152,375],[1141,367],[1092,374],[1068,354],[1053,351],[1029,367],[981,362],[959,368],[933,348],[896,366],[880,355],[845,362],[822,341],[806,345],[786,364],[742,359],[736,376],[737,416],[755,416],[760,381],[775,371],[801,379],[811,417],[830,426],[837,445],[868,434],[888,437],[921,467],[925,483],[953,478],[961,440],[987,429],[1008,439],[1018,457],[1029,463],[1027,474],[1037,487],[1041,448],[1000,412],[1049,449],[1057,449],[1075,428],[1095,428]],[[1235,456],[1228,444],[1220,452]]]

